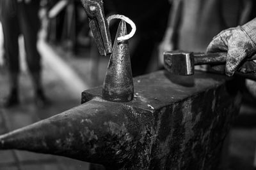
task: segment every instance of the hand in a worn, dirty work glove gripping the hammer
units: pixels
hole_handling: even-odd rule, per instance
[[[256,52],[256,18],[243,26],[221,31],[207,47],[207,53],[212,52],[227,52],[225,73],[232,76],[241,62]],[[256,70],[256,64],[253,64],[255,68],[244,66],[241,72]]]

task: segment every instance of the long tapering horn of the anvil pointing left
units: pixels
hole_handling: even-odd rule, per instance
[[[104,166],[118,166],[122,164],[120,158],[124,155],[127,159],[131,158],[125,148],[132,147],[134,136],[131,131],[128,132],[132,126],[127,125],[127,121],[122,104],[106,103],[95,98],[51,118],[1,135],[0,150],[28,150]]]

